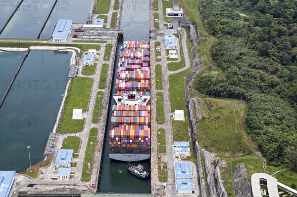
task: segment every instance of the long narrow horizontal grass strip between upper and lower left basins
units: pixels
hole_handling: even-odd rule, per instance
[[[90,41],[90,40],[89,40]],[[82,56],[83,51],[88,51],[89,49],[96,49],[100,50],[99,44],[69,44],[59,43],[59,44],[52,44],[52,43],[40,43],[40,42],[0,42],[0,47],[9,47],[9,48],[28,48],[29,46],[40,46],[47,50],[50,46],[59,46],[61,48],[67,48],[69,46],[79,48],[81,50],[80,56]]]

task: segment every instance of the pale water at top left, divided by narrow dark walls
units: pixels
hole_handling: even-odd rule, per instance
[[[15,10],[20,0],[0,0],[0,29]],[[16,1],[16,2],[14,2]],[[36,39],[49,16],[49,20],[40,39],[50,39],[50,35],[59,19],[72,19],[73,23],[86,23],[93,0],[24,0],[15,12],[0,38]],[[6,2],[9,5],[6,5]],[[14,8],[14,10],[13,10]],[[2,12],[3,10],[3,12]],[[3,17],[2,17],[3,15]]]

